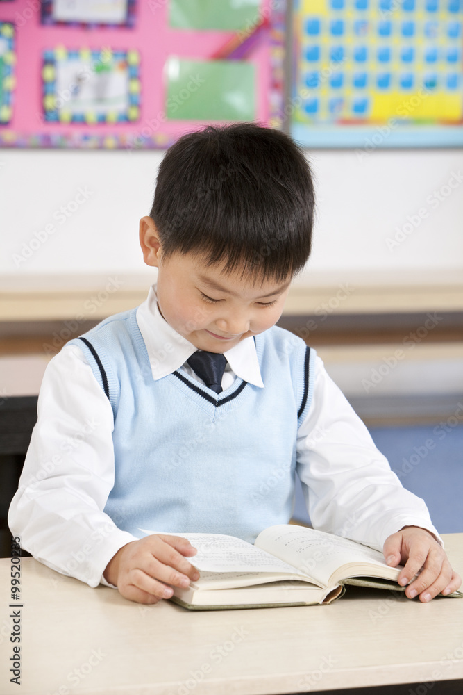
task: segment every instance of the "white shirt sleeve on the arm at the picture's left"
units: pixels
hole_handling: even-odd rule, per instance
[[[96,587],[109,560],[135,540],[104,514],[114,484],[110,402],[78,347],[45,371],[38,418],[8,512],[22,548]]]

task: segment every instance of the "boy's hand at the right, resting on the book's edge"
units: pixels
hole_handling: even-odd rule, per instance
[[[422,569],[405,590],[408,598],[419,595],[419,600],[426,603],[439,593],[451,594],[462,583],[440,543],[423,528],[404,526],[387,537],[382,550],[389,566],[405,565],[398,575],[398,583],[403,587]]]

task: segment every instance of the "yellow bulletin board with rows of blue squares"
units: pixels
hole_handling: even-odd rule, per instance
[[[463,145],[463,0],[296,0],[294,10],[298,142]]]

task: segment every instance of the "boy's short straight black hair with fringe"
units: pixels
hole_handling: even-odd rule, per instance
[[[207,126],[167,150],[150,215],[163,258],[191,252],[227,273],[278,282],[302,270],[310,255],[310,165],[280,131]]]

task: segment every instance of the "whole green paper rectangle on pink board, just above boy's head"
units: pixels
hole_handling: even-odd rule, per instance
[[[241,60],[167,61],[169,120],[252,121],[255,66]]]

